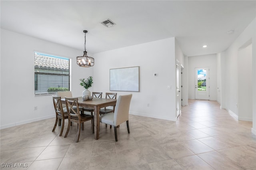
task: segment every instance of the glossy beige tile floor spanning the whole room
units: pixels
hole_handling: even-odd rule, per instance
[[[130,115],[114,129],[100,125],[94,140],[90,121],[76,143],[76,126],[67,138],[52,132],[54,119],[1,130],[1,169],[28,170],[256,170],[252,123],[237,121],[216,101],[189,100],[176,122]],[[66,124],[65,124],[66,126]],[[2,163],[23,163],[6,168]]]

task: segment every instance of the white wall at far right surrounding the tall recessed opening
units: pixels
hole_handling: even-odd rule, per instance
[[[226,50],[226,69],[223,73],[226,76],[226,109],[236,115],[238,113],[238,106],[240,105],[238,99],[238,50],[247,44],[251,40],[252,42],[252,115],[253,115],[253,128],[252,132],[256,134],[256,18],[248,25],[248,27],[240,34],[240,36],[228,47]]]

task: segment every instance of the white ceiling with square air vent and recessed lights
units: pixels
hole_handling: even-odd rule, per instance
[[[219,53],[256,17],[256,1],[244,0],[1,0],[0,5],[1,28],[80,49],[81,54],[83,30],[88,31],[88,53],[170,37],[187,56]],[[100,24],[107,19],[116,25]]]

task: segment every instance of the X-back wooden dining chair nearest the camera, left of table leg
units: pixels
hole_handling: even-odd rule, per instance
[[[91,121],[92,133],[94,133],[94,117],[93,117],[93,115],[80,114],[79,106],[78,106],[78,98],[77,97],[74,97],[74,98],[65,97],[65,101],[66,101],[66,108],[67,108],[67,112],[68,112],[68,128],[67,128],[64,138],[66,138],[68,136],[71,122],[78,124],[78,132],[77,132],[78,136],[77,136],[76,142],[78,142],[78,140],[79,140],[81,126],[83,125],[84,122]]]

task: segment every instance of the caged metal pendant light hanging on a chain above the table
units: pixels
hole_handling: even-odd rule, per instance
[[[91,66],[94,66],[94,58],[87,56],[87,51],[86,51],[86,33],[87,33],[87,31],[84,30],[84,55],[76,57],[76,63],[80,67],[91,67]]]

